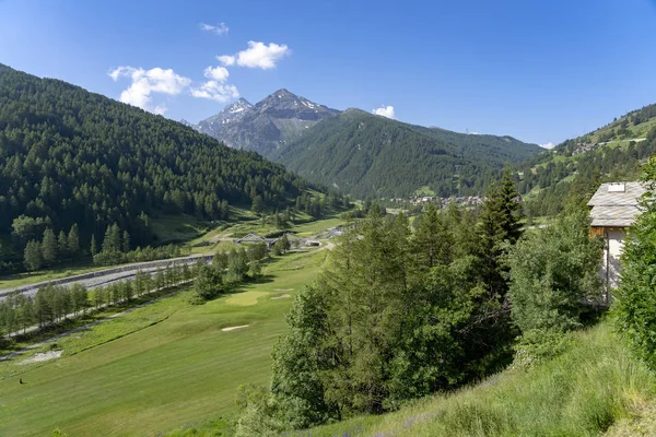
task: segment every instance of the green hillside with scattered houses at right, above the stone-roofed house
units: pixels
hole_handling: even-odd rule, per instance
[[[654,153],[656,105],[649,105],[518,165],[518,189],[531,215],[553,215],[569,193],[585,197],[600,182],[635,180]]]

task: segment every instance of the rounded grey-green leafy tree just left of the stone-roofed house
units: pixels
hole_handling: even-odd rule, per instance
[[[589,221],[587,210],[574,210],[529,234],[507,256],[520,359],[558,352],[563,333],[581,327],[584,302],[600,302],[602,246],[590,237]]]

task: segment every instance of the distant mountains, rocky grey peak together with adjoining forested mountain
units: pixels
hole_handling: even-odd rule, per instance
[[[479,194],[504,163],[542,149],[512,137],[457,133],[340,111],[279,90],[253,105],[239,98],[190,125],[225,144],[258,152],[311,181],[356,197]]]

